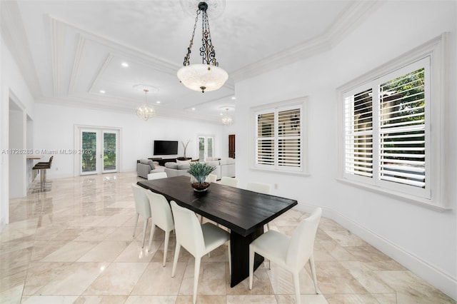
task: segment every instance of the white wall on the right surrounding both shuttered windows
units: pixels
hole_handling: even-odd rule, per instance
[[[455,1],[386,1],[330,51],[236,83],[236,176],[241,186],[247,181],[274,181],[278,189],[273,194],[295,198],[305,210],[322,206],[325,216],[457,299],[455,69],[451,69],[446,102],[448,168],[442,168],[448,177],[444,194],[450,211],[432,210],[336,181],[340,102],[336,100],[336,88],[445,31],[451,32],[450,66],[455,67]],[[310,176],[251,171],[247,147],[253,142],[246,132],[250,127],[249,109],[301,96],[308,96]]]

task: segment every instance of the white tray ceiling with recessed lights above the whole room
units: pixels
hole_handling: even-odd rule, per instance
[[[236,106],[234,81],[328,49],[374,7],[372,1],[226,0],[217,18],[209,11],[209,24],[229,81],[206,93],[176,77],[195,21],[180,1],[2,0],[1,33],[37,102],[133,114],[144,102],[134,85],[146,84],[159,88],[148,94],[157,115],[220,122],[224,109]],[[199,29],[201,19],[191,63],[201,62]]]

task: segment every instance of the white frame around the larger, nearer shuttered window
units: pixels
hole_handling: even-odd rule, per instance
[[[387,193],[389,195],[405,198],[406,201],[414,203],[424,203],[426,206],[446,208],[443,202],[443,130],[444,130],[444,98],[446,83],[446,40],[448,34],[442,34],[436,39],[428,41],[416,49],[408,51],[406,54],[388,62],[387,64],[368,72],[367,74],[346,83],[337,88],[338,92],[338,180],[351,183],[354,186],[368,188],[373,191]],[[407,74],[408,70],[414,69],[415,64],[423,60],[429,60],[426,68],[426,81],[429,83],[426,96],[426,188],[405,186],[397,183],[376,181],[378,170],[378,158],[375,149],[378,148],[377,135],[375,129],[378,123],[373,114],[373,178],[354,176],[345,173],[345,117],[344,117],[344,97],[348,94],[363,91],[363,89],[373,87],[373,82],[382,83],[396,76]],[[422,64],[420,64],[423,66]],[[405,73],[406,71],[406,73]],[[376,91],[373,91],[373,94]],[[373,103],[373,113],[375,112]],[[431,128],[433,126],[433,128]]]

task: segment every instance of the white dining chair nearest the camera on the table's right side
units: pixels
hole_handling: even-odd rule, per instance
[[[273,263],[286,268],[293,275],[296,303],[300,303],[300,285],[298,273],[309,261],[314,289],[320,293],[317,285],[316,268],[314,266],[314,239],[321,219],[322,209],[316,208],[308,218],[298,224],[292,236],[268,230],[249,245],[249,290],[252,289],[254,255],[258,253]]]

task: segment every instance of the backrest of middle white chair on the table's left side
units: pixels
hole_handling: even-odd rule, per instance
[[[165,196],[152,191],[146,191],[146,196],[148,196],[151,206],[152,222],[164,230],[172,230],[174,221],[169,201]]]

